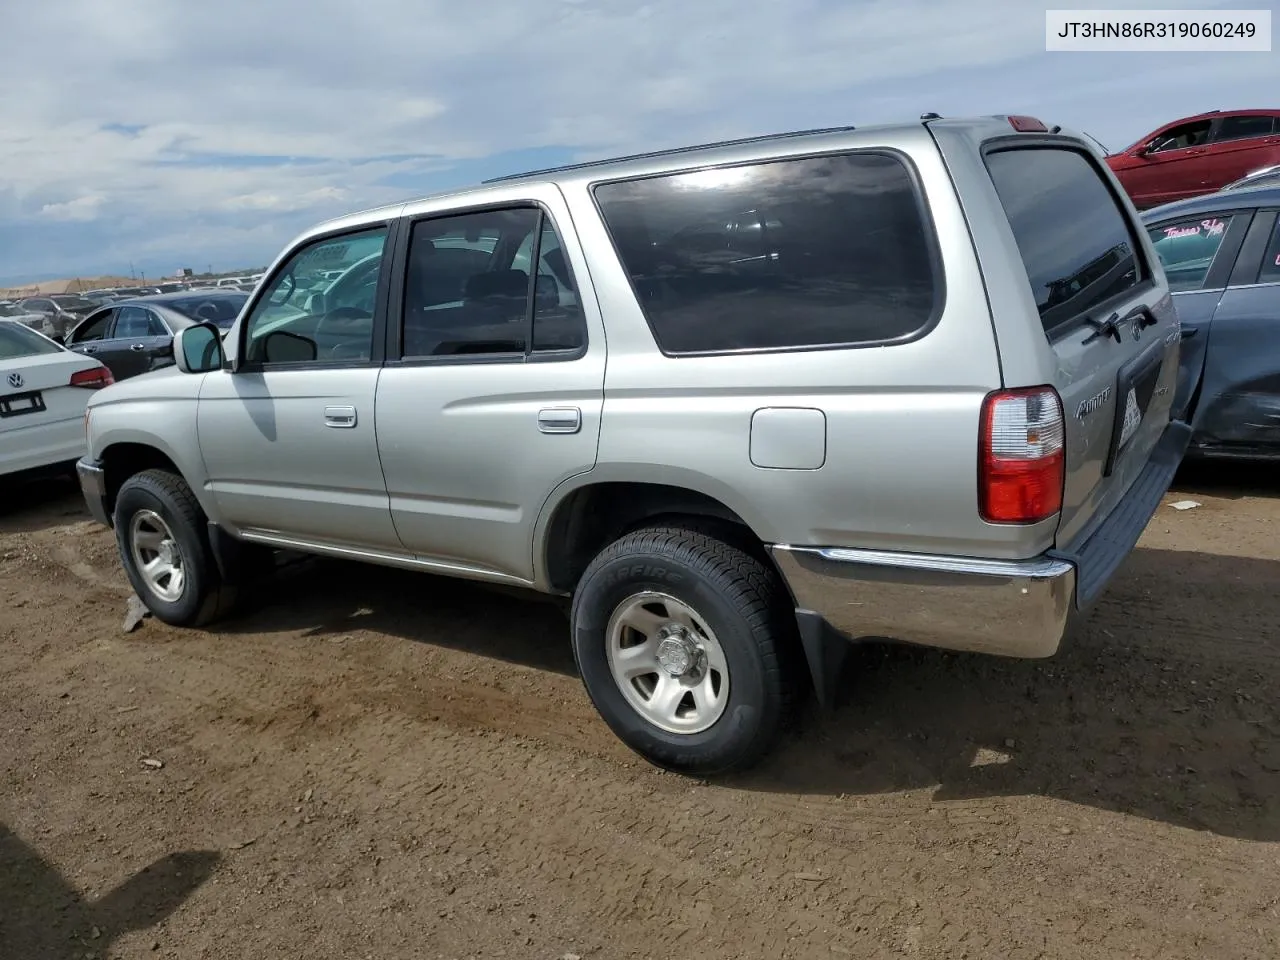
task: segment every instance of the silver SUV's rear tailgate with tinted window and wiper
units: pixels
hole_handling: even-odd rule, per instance
[[[988,143],[984,161],[1028,284],[1015,310],[1041,328],[1052,355],[1051,369],[1006,362],[1006,380],[1033,380],[1007,385],[1038,385],[1050,374],[1062,398],[1066,479],[1056,544],[1066,547],[1111,512],[1164,434],[1178,319],[1146,232],[1089,150],[1018,136]]]

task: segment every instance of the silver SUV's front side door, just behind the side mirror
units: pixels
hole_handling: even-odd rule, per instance
[[[321,268],[367,255],[370,241],[389,269],[388,233],[387,224],[374,224],[306,242],[283,257],[234,328],[242,358],[206,378],[200,449],[209,492],[236,531],[300,545],[401,550],[375,435],[385,273],[369,297],[372,315],[355,323],[338,317],[330,337],[321,337],[328,316],[288,306]],[[310,358],[273,356],[262,342],[273,332],[310,343]],[[349,339],[334,339],[342,335]],[[324,356],[320,340],[330,347]],[[343,346],[351,349],[337,351]]]

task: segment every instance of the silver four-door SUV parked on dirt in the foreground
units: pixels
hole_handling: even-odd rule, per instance
[[[168,623],[276,549],[571,598],[604,719],[708,774],[851,640],[1053,654],[1181,460],[1179,339],[1076,136],[762,137],[308,230],[92,399],[79,475]]]

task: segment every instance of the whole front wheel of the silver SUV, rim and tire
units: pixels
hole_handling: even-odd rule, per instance
[[[114,525],[124,572],[156,620],[200,626],[234,603],[236,590],[218,573],[205,513],[180,476],[131,476],[115,497]]]

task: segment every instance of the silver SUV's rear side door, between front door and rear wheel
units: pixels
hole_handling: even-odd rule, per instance
[[[484,230],[474,223],[460,229],[480,237],[476,244],[497,243],[492,253],[486,247],[480,257],[484,262],[492,256],[495,266],[474,275],[470,264],[475,261],[460,256],[457,248],[465,239],[444,236],[449,233],[445,220],[463,221],[465,216],[428,218],[439,236],[430,241],[434,253],[422,260],[419,252],[426,250],[426,241],[411,230],[413,221],[406,221],[404,262],[413,266],[408,282],[401,278],[392,288],[392,316],[397,317],[392,326],[403,348],[399,339],[392,347],[397,360],[388,361],[383,371],[376,417],[392,516],[404,548],[422,559],[472,575],[532,582],[539,512],[561,483],[595,465],[605,351],[603,321],[559,191],[545,184],[522,191],[525,205],[534,201],[544,211],[540,236],[550,236],[545,224],[554,234],[545,239],[536,260],[530,255],[526,261],[539,264],[534,302],[550,302],[556,312],[562,303],[573,301],[572,308],[563,310],[573,314],[572,324],[580,324],[572,329],[580,332],[581,339],[575,339],[579,334],[550,333],[553,325],[544,324],[549,314],[539,312],[541,306],[534,308],[527,340],[521,339],[529,329],[522,323],[483,323],[477,319],[484,316],[483,310],[472,316],[476,324],[468,326],[470,320],[461,317],[470,308],[470,294],[460,291],[495,289],[503,278],[520,274],[518,248],[512,252],[506,234],[481,237]],[[410,212],[428,215],[429,206]],[[516,228],[511,228],[515,233]],[[544,255],[553,242],[563,256],[556,261],[562,271],[558,283],[548,279],[550,268],[544,270]],[[404,264],[398,269],[404,270]],[[458,270],[467,276],[456,276]],[[511,302],[518,300],[512,308],[518,316],[527,305],[521,285],[526,283],[518,280],[512,287]],[[460,296],[462,300],[456,300]],[[410,317],[403,332],[402,316]],[[449,317],[460,317],[453,334],[445,332]],[[457,337],[456,344],[451,335]],[[540,343],[547,353],[536,352]],[[524,348],[529,352],[521,353]],[[453,349],[492,356],[448,356]],[[498,356],[502,351],[509,352]],[[402,353],[410,358],[402,360]]]

